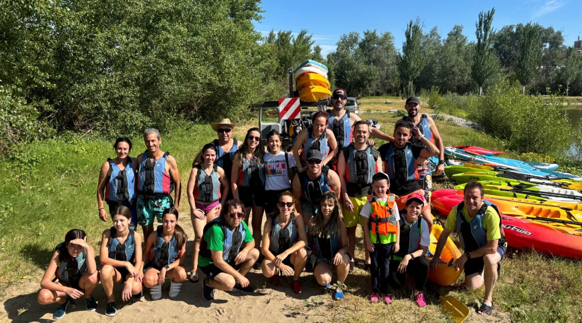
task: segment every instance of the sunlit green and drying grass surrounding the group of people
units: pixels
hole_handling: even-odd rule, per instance
[[[384,101],[392,101],[385,104]],[[391,113],[365,113],[403,109],[396,98],[362,99],[362,118],[372,117],[382,130],[392,132],[398,117]],[[427,109],[423,108],[423,112]],[[243,138],[246,129],[257,124],[235,128]],[[503,142],[486,134],[437,121],[446,145],[477,145],[504,150]],[[161,149],[168,150],[178,161],[180,178],[185,185],[193,157],[204,143],[214,137],[209,125],[184,124],[170,134],[162,134]],[[90,243],[98,246],[101,232],[111,226],[99,220],[95,191],[98,169],[107,157],[113,157],[112,142],[102,139],[73,137],[36,142],[23,146],[21,152],[5,159],[0,167],[0,301],[5,300],[7,286],[24,282],[38,283],[47,266],[49,254],[70,228],[83,228]],[[141,138],[132,138],[132,156],[143,152]],[[508,153],[506,156],[515,157]],[[445,179],[437,179],[437,188],[450,187]],[[182,191],[180,210],[188,214],[186,193]],[[186,218],[182,221],[190,222]],[[191,227],[185,224],[187,233]],[[190,239],[192,237],[190,236]],[[361,245],[361,236],[360,236]],[[362,261],[359,247],[356,259]],[[189,260],[187,261],[189,263]],[[307,275],[307,274],[304,274]],[[307,279],[307,278],[304,278]],[[304,305],[308,321],[448,321],[438,303],[439,295],[453,295],[468,306],[480,300],[483,290],[465,290],[460,281],[446,288],[429,284],[429,306],[418,309],[407,295],[396,293],[392,306],[370,304],[370,276],[357,268],[347,281],[349,293],[345,302],[329,302],[328,296],[311,297]],[[514,251],[503,260],[502,277],[494,293],[496,321],[582,321],[582,265],[580,261],[553,259],[535,253]],[[471,309],[473,311],[473,309]],[[330,316],[332,315],[332,316]],[[410,316],[411,315],[411,316]],[[475,319],[474,314],[472,318]]]

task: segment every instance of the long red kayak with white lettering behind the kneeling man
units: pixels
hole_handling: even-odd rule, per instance
[[[434,195],[433,195],[434,196]],[[460,198],[460,199],[459,199]],[[443,214],[449,214],[459,204],[462,196],[441,196],[431,199],[432,206]],[[549,225],[522,220],[501,214],[503,232],[510,247],[533,249],[553,256],[582,258],[582,236],[556,231]]]

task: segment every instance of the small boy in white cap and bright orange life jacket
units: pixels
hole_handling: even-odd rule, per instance
[[[400,214],[396,206],[396,196],[388,193],[389,187],[388,174],[374,174],[374,195],[368,196],[360,212],[364,217],[365,246],[371,259],[372,303],[378,303],[380,299],[386,304],[392,303],[388,294],[390,255],[400,249]]]

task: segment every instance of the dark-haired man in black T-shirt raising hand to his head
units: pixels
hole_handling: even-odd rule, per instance
[[[413,145],[410,138],[416,138],[424,146]],[[403,211],[406,200],[412,194],[421,194],[424,191],[418,186],[418,157],[429,158],[438,154],[437,146],[420,133],[417,127],[409,121],[398,120],[394,126],[394,141],[385,143],[378,149],[384,161],[384,173],[390,178],[390,191],[398,197],[398,210]],[[432,229],[432,215],[430,204],[423,208],[423,218],[428,223],[428,230]]]

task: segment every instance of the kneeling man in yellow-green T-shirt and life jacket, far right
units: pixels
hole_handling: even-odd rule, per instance
[[[491,315],[493,289],[505,256],[507,243],[501,227],[501,216],[495,204],[483,200],[480,182],[465,185],[463,202],[450,210],[445,227],[438,239],[437,250],[431,260],[436,268],[446,239],[457,231],[464,248],[463,256],[455,261],[455,267],[464,269],[465,285],[477,289],[485,283],[485,297],[477,314]]]

